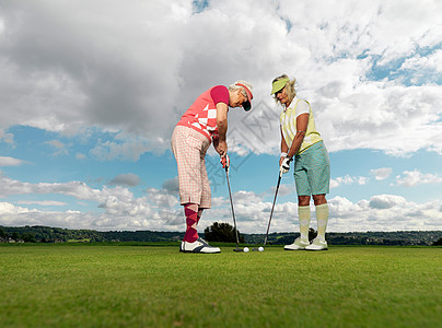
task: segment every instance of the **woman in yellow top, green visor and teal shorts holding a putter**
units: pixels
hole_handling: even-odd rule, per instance
[[[283,74],[272,81],[271,94],[283,110],[281,124],[281,156],[279,160],[282,173],[290,171],[290,162],[294,160],[294,181],[298,194],[298,213],[301,236],[293,244],[286,245],[286,250],[325,250],[325,231],[328,222],[328,203],[325,195],[329,192],[330,162],[327,149],[319,132],[310,104],[299,99],[292,81]],[[316,207],[317,237],[309,242],[311,221],[310,200],[313,197]]]

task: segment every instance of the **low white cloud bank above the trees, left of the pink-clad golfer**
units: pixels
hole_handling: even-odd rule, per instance
[[[184,218],[179,201],[166,190],[150,188],[147,195],[136,198],[127,188],[93,189],[80,181],[63,184],[30,184],[0,176],[0,197],[34,195],[65,195],[77,200],[96,203],[93,212],[50,212],[28,210],[2,202],[0,207],[0,224],[44,224],[71,229],[97,230],[177,230]],[[50,200],[19,200],[16,203],[39,206],[62,206],[62,202]],[[27,222],[27,223],[26,223]]]

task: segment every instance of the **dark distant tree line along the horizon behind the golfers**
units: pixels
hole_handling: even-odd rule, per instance
[[[264,241],[264,234],[240,233],[240,243],[258,245]],[[69,230],[43,225],[35,226],[0,226],[0,242],[25,243],[68,243],[68,242],[173,242],[181,241],[184,232],[153,231],[108,231]],[[286,245],[293,243],[299,233],[271,233],[269,245]],[[313,239],[316,232],[311,229],[309,238]],[[205,230],[209,242],[234,243],[236,237],[233,226],[228,223],[214,223]],[[327,233],[329,245],[442,245],[442,231],[398,231],[398,232],[349,232]]]

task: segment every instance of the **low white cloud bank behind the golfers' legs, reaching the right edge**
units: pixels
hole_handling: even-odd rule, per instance
[[[253,206],[251,206],[253,204]],[[271,202],[253,202],[248,206],[235,202],[237,226],[244,233],[266,233]],[[441,201],[415,203],[395,195],[373,196],[370,200],[352,202],[344,197],[328,200],[330,219],[328,232],[352,231],[410,231],[441,230]],[[316,229],[315,207],[312,204],[311,226]],[[203,214],[200,232],[214,221],[233,224],[229,200]],[[271,232],[299,232],[298,204],[277,203],[271,220]]]

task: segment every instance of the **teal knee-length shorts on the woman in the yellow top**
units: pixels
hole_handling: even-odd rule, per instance
[[[294,183],[298,196],[323,195],[330,191],[330,160],[324,142],[316,142],[295,155]]]

